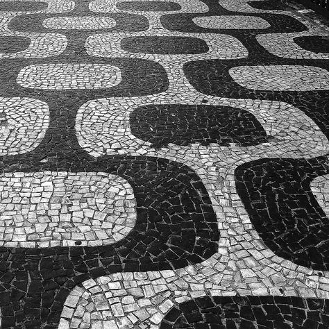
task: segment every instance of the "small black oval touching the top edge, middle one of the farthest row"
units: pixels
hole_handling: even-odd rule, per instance
[[[180,10],[182,7],[175,2],[165,1],[125,1],[117,3],[120,10],[135,11],[174,11]]]

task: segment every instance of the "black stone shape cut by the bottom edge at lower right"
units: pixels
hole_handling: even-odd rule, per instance
[[[325,329],[329,301],[286,296],[200,297],[171,308],[160,329]]]

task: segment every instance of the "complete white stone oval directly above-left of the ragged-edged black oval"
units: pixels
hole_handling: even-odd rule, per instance
[[[102,89],[121,82],[118,67],[105,64],[40,64],[19,71],[17,83],[45,90]]]

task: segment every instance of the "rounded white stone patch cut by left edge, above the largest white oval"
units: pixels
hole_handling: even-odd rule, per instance
[[[38,99],[0,97],[0,156],[32,151],[49,126],[49,107]]]

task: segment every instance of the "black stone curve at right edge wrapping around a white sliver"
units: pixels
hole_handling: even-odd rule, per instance
[[[256,160],[235,170],[237,193],[264,244],[319,271],[329,270],[329,220],[310,183],[326,174],[328,159],[322,157]]]

